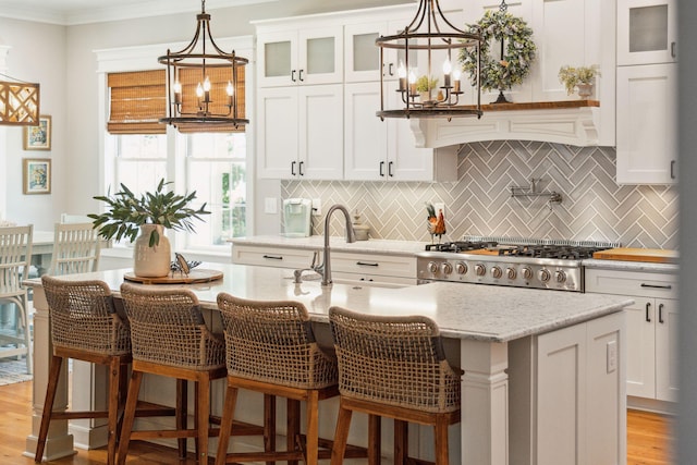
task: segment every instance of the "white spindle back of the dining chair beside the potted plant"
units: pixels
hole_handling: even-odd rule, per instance
[[[99,267],[100,243],[93,223],[56,223],[50,276],[86,273]]]

